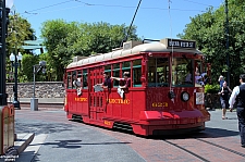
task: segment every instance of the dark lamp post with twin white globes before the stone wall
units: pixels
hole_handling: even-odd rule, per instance
[[[12,66],[14,66],[14,99],[13,99],[13,105],[14,109],[21,109],[20,102],[17,100],[17,66],[21,67],[21,61],[22,61],[22,54],[19,52],[19,54],[10,54],[10,61],[12,63]]]

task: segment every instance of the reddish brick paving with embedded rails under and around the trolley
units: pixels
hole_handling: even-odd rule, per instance
[[[40,108],[38,112],[29,111],[28,108],[24,107],[22,110],[17,112],[22,117],[28,116],[29,119],[33,117],[36,120],[63,122],[66,124],[72,123],[81,126],[85,125],[83,123],[74,123],[68,120],[65,121],[65,115],[63,113],[59,113],[59,116],[56,115],[56,112],[62,110],[56,107]],[[53,113],[50,113],[50,111]],[[220,112],[213,115],[219,115],[219,113]],[[231,117],[231,120],[235,120],[235,114],[232,115],[233,119]],[[218,120],[217,116],[215,120]],[[221,119],[219,117],[219,120]],[[229,120],[220,122],[226,122],[226,124],[234,123]],[[176,137],[145,138],[135,136],[131,133],[114,132],[90,125],[86,126],[126,144],[147,162],[245,161],[245,149],[240,147],[240,137],[237,132],[231,129],[208,127],[201,134]],[[233,127],[236,127],[236,125]]]

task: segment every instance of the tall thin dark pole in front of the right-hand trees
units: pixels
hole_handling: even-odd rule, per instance
[[[225,27],[225,35],[226,35],[226,64],[228,64],[228,85],[230,85],[230,53],[229,53],[229,18],[228,18],[228,0],[225,0],[225,15],[226,15],[226,27]]]

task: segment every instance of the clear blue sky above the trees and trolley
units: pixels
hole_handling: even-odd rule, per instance
[[[66,22],[107,22],[130,25],[139,0],[14,0],[12,11],[27,18],[40,36],[41,24],[48,20]],[[142,0],[134,21],[137,35],[148,39],[176,38],[189,17],[208,7],[218,9],[224,0]],[[170,7],[170,10],[169,10]]]

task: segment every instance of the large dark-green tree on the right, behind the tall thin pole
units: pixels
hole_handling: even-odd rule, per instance
[[[244,1],[229,0],[229,49],[226,49],[226,22],[224,5],[213,10],[207,9],[203,14],[191,17],[183,39],[194,39],[197,47],[205,53],[206,61],[211,63],[212,83],[217,83],[220,74],[226,76],[231,72],[231,87],[237,85],[237,78],[245,67],[245,23]],[[226,53],[230,54],[230,67],[226,66]]]

